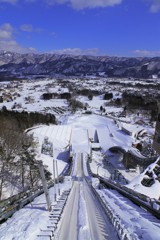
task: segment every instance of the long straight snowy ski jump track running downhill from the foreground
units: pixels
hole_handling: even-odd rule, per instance
[[[117,234],[102,206],[86,182],[82,167],[82,153],[75,157],[75,176],[63,219],[56,239],[59,240],[117,240]]]

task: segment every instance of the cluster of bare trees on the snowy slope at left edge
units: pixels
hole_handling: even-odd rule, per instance
[[[39,171],[33,138],[26,133],[0,127],[0,200],[10,185],[19,191],[35,186]]]

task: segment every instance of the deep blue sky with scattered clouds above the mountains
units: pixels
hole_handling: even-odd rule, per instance
[[[0,50],[160,56],[160,0],[0,0]]]

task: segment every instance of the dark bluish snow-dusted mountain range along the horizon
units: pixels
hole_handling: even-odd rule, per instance
[[[160,57],[19,54],[0,51],[0,80],[27,76],[160,77]]]

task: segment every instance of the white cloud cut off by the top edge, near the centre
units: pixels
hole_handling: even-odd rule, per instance
[[[46,0],[48,5],[68,4],[72,8],[82,10],[85,8],[113,7],[122,3],[123,0]]]

